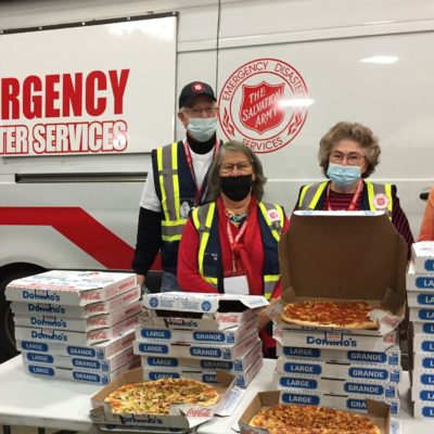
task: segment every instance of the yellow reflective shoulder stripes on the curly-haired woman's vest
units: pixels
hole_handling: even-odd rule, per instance
[[[320,197],[322,196],[329,181],[305,186],[302,190],[298,200],[299,209],[316,209]],[[392,219],[393,212],[393,197],[392,197],[392,184],[391,183],[374,183],[371,181],[365,181],[368,193],[368,203],[370,210],[383,210],[390,219]],[[375,206],[374,197],[379,194],[384,194],[387,199],[387,207]]]

